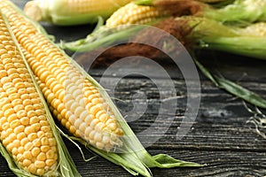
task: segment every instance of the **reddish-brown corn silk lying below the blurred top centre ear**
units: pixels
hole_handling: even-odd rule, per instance
[[[186,20],[176,20],[173,17],[169,17],[168,19],[162,19],[160,22],[153,24],[153,27],[158,27],[161,30],[167,32],[168,35],[173,35],[176,39],[181,42],[186,48],[189,48],[192,45],[192,41],[187,39],[186,37],[190,35],[192,28],[186,26]],[[168,36],[165,36],[165,33],[158,33],[157,30],[148,30],[143,29],[137,32],[136,35],[132,36],[132,40],[130,41],[149,41],[153,43],[153,46],[160,46],[161,48],[164,45],[164,39],[167,39]],[[88,58],[95,58],[98,50],[96,49],[90,52],[84,52],[83,55],[80,55],[77,59],[78,63],[81,65],[86,65],[86,63],[82,63],[87,61]],[[172,52],[172,51],[170,51]],[[180,51],[175,51],[180,52]],[[91,56],[91,57],[90,57]],[[95,60],[92,66],[96,65],[110,65],[114,61],[127,58],[131,56],[142,56],[145,58],[151,59],[160,59],[160,58],[168,58],[166,54],[164,54],[161,50],[153,48],[150,45],[145,45],[143,43],[125,43],[122,45],[113,46],[112,48],[108,48],[101,52],[98,58]],[[132,60],[130,65],[138,65],[138,61]]]

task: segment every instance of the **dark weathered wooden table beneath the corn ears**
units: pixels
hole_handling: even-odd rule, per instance
[[[13,2],[22,8],[27,1],[13,0]],[[93,28],[91,26],[54,27],[47,24],[44,27],[48,33],[55,35],[57,40],[65,41],[82,38]],[[212,68],[213,71],[218,71],[225,78],[236,81],[266,98],[266,61],[217,52],[201,54],[200,61],[208,68]],[[193,122],[190,132],[181,140],[176,140],[177,127],[184,118],[186,88],[182,73],[176,72],[169,65],[164,66],[175,83],[178,108],[176,115],[162,115],[172,116],[175,119],[167,133],[153,145],[147,147],[147,150],[153,155],[167,153],[174,158],[206,165],[200,168],[153,168],[153,175],[155,177],[266,175],[266,140],[255,132],[252,124],[246,123],[253,114],[247,112],[240,99],[215,88],[214,84],[201,73],[199,114]],[[105,67],[95,67],[90,70],[90,75],[99,81],[105,69]],[[116,77],[119,75],[110,74],[109,82],[106,82],[106,89],[108,89],[108,83],[111,84]],[[164,79],[159,78],[158,81],[163,83]],[[146,98],[135,97],[138,104],[148,104],[143,116],[129,122],[133,131],[139,133],[153,124],[153,118],[158,114],[160,97],[153,81],[142,76],[129,75],[121,79],[114,94],[115,98],[123,100],[115,101],[123,114],[126,115],[132,109],[132,96],[136,93],[146,96]],[[167,96],[168,92],[160,94]],[[168,124],[160,124],[160,127],[164,126],[168,126]],[[160,127],[158,127],[159,130]],[[151,137],[153,135],[142,135],[140,139],[145,143]],[[82,176],[130,176],[120,166],[113,165],[105,158],[98,157],[90,162],[84,162],[77,148],[68,141],[66,141],[66,146]],[[93,155],[89,151],[85,151],[85,156],[90,158]],[[0,176],[14,176],[2,157],[0,158]]]

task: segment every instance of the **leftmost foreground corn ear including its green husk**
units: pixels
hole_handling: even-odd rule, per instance
[[[0,26],[2,155],[18,176],[79,176],[36,86],[33,73],[2,14]]]

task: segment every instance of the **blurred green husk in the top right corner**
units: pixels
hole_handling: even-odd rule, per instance
[[[163,0],[137,0],[137,4],[160,5],[160,1],[163,3]],[[176,2],[178,1],[186,0],[176,0]],[[193,2],[196,1],[191,1],[191,5],[200,9],[195,15],[207,19],[215,19],[221,22],[245,21],[249,23],[266,20],[266,1],[264,0],[225,0],[221,3],[226,5],[220,4],[216,7],[203,3],[194,4]],[[167,6],[165,8],[168,10]]]

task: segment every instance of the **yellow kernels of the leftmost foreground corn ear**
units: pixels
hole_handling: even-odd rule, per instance
[[[0,26],[0,47],[3,48],[4,46],[5,48],[0,49],[2,58],[0,59],[0,65],[3,65],[0,72],[0,88],[2,90],[0,98],[1,142],[3,142],[11,157],[16,160],[16,164],[28,173],[35,175],[51,173],[56,170],[57,159],[53,158],[53,161],[47,164],[46,158],[44,158],[46,154],[35,150],[34,142],[39,138],[37,133],[41,128],[32,128],[34,124],[30,119],[33,118],[28,114],[28,112],[35,112],[31,100],[39,95],[31,79],[23,81],[23,77],[29,75],[27,66],[20,56],[20,50],[12,41],[12,35],[2,14],[0,15]],[[42,109],[42,115],[46,117],[41,102],[38,103],[38,108]],[[47,119],[43,121],[48,122]],[[46,126],[44,128],[52,135],[50,127]],[[54,157],[57,157],[57,143],[55,137],[51,137],[51,135],[49,138],[53,143],[49,147],[49,156],[51,157],[51,154],[53,154]],[[45,135],[42,138],[45,138]],[[35,150],[34,153],[31,150]]]

